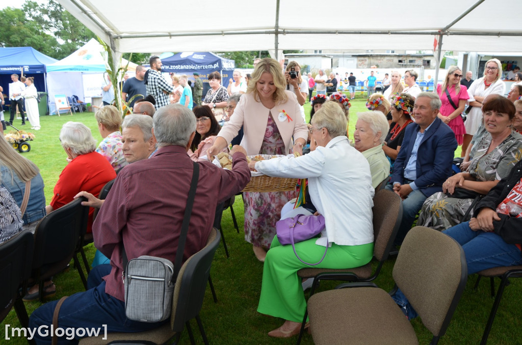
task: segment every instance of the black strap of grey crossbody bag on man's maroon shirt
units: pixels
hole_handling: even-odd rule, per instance
[[[183,215],[183,223],[181,224],[180,239],[177,242],[176,258],[174,261],[174,273],[172,275],[171,282],[174,283],[177,278],[177,274],[180,272],[181,263],[183,261],[183,252],[185,251],[185,242],[187,239],[188,225],[191,220],[192,206],[194,204],[194,198],[196,196],[197,181],[199,180],[199,164],[193,162],[194,170],[192,172],[191,188],[188,191],[187,205],[185,207],[185,214]],[[122,247],[122,258],[123,258],[123,270],[127,268],[128,260],[127,253],[125,252],[125,246],[123,240],[121,242]]]

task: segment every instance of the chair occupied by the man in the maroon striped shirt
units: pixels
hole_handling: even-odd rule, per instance
[[[179,342],[183,329],[187,328],[191,343],[195,344],[190,320],[195,318],[203,341],[208,345],[207,336],[199,317],[203,305],[210,267],[219,245],[219,233],[216,228],[210,232],[205,248],[188,258],[181,267],[176,279],[170,323],[156,329],[137,333],[110,333],[107,339],[99,337],[83,338],[80,345],[104,344],[170,344]]]

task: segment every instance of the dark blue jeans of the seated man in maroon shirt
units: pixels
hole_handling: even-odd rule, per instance
[[[102,278],[110,272],[111,265],[99,265],[91,270],[87,280],[88,290],[73,294],[62,304],[58,327],[64,329],[74,327],[77,330],[80,327],[98,328],[107,325],[107,332],[140,332],[170,322],[170,319],[161,323],[128,320],[125,316],[125,302],[105,293],[105,281]],[[53,323],[53,313],[57,303],[58,301],[45,303],[35,310],[29,318],[29,327],[48,326],[46,331],[50,333],[50,325]],[[45,329],[43,330],[45,331]],[[100,334],[103,334],[103,331],[101,328]],[[51,344],[51,336],[44,337],[38,333],[37,331],[34,335],[37,344]],[[77,344],[81,338],[77,334],[71,340],[66,337],[67,335],[58,338],[58,344]]]

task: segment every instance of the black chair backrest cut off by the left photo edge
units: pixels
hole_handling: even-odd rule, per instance
[[[34,239],[28,230],[23,230],[0,244],[0,321],[13,305],[18,289],[31,275]]]

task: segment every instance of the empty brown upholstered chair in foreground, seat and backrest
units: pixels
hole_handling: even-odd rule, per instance
[[[437,343],[466,286],[464,251],[440,231],[414,227],[400,248],[393,277],[432,332],[431,343]],[[310,298],[310,329],[316,344],[418,344],[413,327],[386,291],[341,288],[350,285]]]

